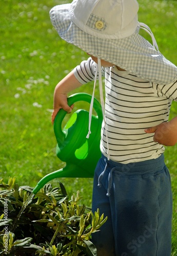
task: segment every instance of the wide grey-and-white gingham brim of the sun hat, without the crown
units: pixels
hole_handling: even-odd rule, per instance
[[[123,39],[103,39],[85,33],[70,18],[70,4],[51,9],[52,25],[61,38],[97,58],[127,70],[132,75],[160,84],[177,78],[177,68],[136,31]]]

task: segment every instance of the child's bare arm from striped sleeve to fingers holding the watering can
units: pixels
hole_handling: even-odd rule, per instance
[[[75,78],[73,71],[58,82],[54,90],[52,123],[54,122],[55,116],[60,109],[64,109],[68,113],[72,111],[73,105],[68,105],[67,93],[80,86],[82,86],[82,83]]]

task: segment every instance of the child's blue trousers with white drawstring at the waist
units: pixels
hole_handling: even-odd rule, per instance
[[[102,156],[93,184],[97,208],[108,217],[92,234],[98,256],[171,255],[172,193],[163,155],[130,164]]]

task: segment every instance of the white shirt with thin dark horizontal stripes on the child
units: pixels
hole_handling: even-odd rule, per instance
[[[94,80],[95,62],[89,58],[74,69],[81,83]],[[105,76],[105,117],[101,131],[101,152],[121,163],[158,158],[164,146],[153,141],[154,134],[144,129],[167,122],[172,100],[177,101],[177,81],[155,84],[120,71],[115,66],[102,68]]]

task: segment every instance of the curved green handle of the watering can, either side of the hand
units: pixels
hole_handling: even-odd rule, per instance
[[[71,106],[74,102],[77,101],[86,101],[88,103],[91,102],[91,95],[87,94],[87,93],[75,93],[71,96],[68,97],[68,105]],[[101,119],[103,119],[103,114],[102,114],[102,109],[101,109],[101,105],[100,102],[94,98],[93,101],[93,108],[97,113],[97,116]],[[64,111],[63,109],[61,109],[60,111],[58,111],[55,120],[54,120],[54,124],[53,124],[53,129],[54,129],[54,133],[56,138],[60,138],[60,141],[64,141],[65,139],[65,133],[62,131],[62,122],[64,117],[66,116],[67,112]]]

